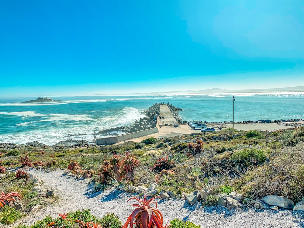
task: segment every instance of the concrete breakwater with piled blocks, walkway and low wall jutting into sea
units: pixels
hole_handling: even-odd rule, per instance
[[[161,108],[162,107],[162,108]],[[164,112],[164,110],[166,112]],[[169,111],[167,111],[169,110]],[[97,138],[96,144],[97,145],[109,145],[114,143],[119,143],[124,140],[130,140],[133,138],[138,138],[146,135],[150,135],[153,133],[159,132],[159,123],[164,125],[164,121],[160,121],[162,117],[166,119],[170,119],[172,124],[166,124],[171,126],[178,126],[178,111],[181,110],[174,105],[169,105],[163,103],[155,103],[150,108],[142,112],[141,114],[144,114],[145,117],[140,118],[138,121],[135,121],[135,123],[129,127],[129,130],[126,134],[118,135],[118,136],[112,136],[112,137],[104,137],[104,138]],[[161,116],[161,113],[166,113]],[[175,119],[178,118],[178,120]],[[109,130],[106,130],[106,132],[114,131],[114,129],[120,129],[118,128],[112,128]],[[105,131],[96,132],[98,133],[105,133]]]

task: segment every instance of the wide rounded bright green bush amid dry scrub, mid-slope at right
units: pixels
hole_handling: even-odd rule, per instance
[[[258,150],[255,148],[246,148],[235,152],[230,157],[230,160],[241,161],[241,160],[255,159],[258,163],[262,163],[266,160],[266,157],[267,157],[267,153],[262,150]]]

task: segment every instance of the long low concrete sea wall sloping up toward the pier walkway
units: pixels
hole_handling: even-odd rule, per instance
[[[157,133],[157,132],[158,132],[158,128],[154,127],[154,128],[150,128],[150,129],[146,129],[146,130],[141,130],[141,131],[136,131],[136,132],[133,132],[133,133],[128,133],[128,134],[125,134],[125,135],[112,136],[112,137],[106,137],[106,138],[98,138],[98,139],[96,139],[96,144],[97,145],[111,145],[111,144],[119,143],[119,142],[122,142],[122,141],[125,141],[125,140],[130,140],[130,139],[154,134],[154,133]]]

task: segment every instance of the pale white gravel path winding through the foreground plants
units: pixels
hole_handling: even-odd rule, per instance
[[[113,212],[124,223],[133,211],[130,201],[127,200],[135,194],[114,191],[110,188],[103,193],[93,193],[84,181],[75,180],[63,175],[63,171],[52,171],[45,173],[39,170],[29,170],[29,173],[39,176],[44,181],[44,187],[52,187],[55,193],[60,195],[60,201],[55,206],[40,209],[20,219],[9,227],[17,226],[19,223],[33,224],[45,215],[57,217],[60,213],[91,209],[92,214],[103,216]],[[190,220],[202,227],[244,228],[244,227],[304,227],[304,213],[289,210],[254,210],[251,208],[239,208],[229,211],[222,206],[202,207],[201,203],[189,205],[188,202],[180,200],[160,200],[158,209],[163,213],[165,223],[174,218]]]

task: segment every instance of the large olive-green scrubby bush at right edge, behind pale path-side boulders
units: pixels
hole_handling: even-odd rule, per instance
[[[304,143],[289,146],[270,157],[268,165],[247,171],[233,182],[244,198],[281,195],[299,202],[304,197]]]

